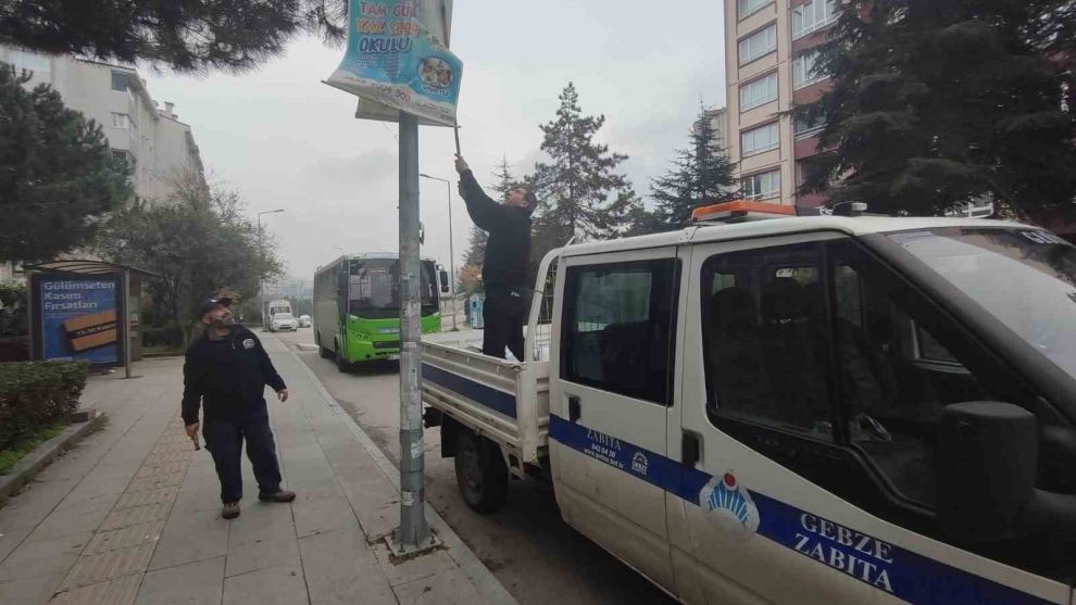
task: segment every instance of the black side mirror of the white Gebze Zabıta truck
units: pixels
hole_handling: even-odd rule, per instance
[[[1036,489],[1038,426],[1011,403],[947,405],[938,431],[938,521],[966,543],[1076,535],[1076,496]]]

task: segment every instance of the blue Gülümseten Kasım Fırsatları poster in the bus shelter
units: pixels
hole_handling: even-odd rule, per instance
[[[115,277],[34,276],[42,360],[120,363],[120,292]]]

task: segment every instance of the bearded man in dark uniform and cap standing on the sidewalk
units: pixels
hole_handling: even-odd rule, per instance
[[[205,331],[187,351],[183,366],[183,421],[187,434],[198,434],[199,403],[205,409],[205,448],[221,479],[224,518],[239,516],[242,499],[242,442],[258,479],[258,499],[291,502],[292,491],[280,489],[280,465],[265,407],[265,386],[288,401],[288,389],[273,367],[254,332],[236,324],[230,299],[207,301],[198,308]]]

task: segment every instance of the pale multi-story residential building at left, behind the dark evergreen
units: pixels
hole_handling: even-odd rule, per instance
[[[172,103],[158,106],[134,68],[4,45],[0,45],[0,62],[26,70],[32,74],[26,86],[50,85],[64,104],[100,124],[113,153],[130,163],[139,198],[165,199],[180,177],[204,182],[190,126],[179,122]]]

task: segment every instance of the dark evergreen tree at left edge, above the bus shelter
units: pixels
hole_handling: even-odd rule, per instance
[[[0,63],[0,260],[45,261],[86,243],[130,197],[101,127]]]

